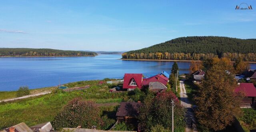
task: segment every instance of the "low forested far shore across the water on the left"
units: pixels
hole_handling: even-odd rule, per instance
[[[95,52],[48,48],[0,48],[0,56],[96,56]]]

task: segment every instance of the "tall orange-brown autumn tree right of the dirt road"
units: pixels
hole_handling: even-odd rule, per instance
[[[222,130],[241,114],[241,94],[235,94],[236,80],[225,59],[208,61],[208,70],[195,98],[198,110],[196,117],[200,124],[213,130]],[[230,69],[232,70],[232,69]]]

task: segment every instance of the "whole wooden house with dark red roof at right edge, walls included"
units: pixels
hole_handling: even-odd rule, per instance
[[[253,83],[240,83],[234,90],[236,93],[242,92],[244,98],[242,100],[241,107],[252,108],[256,106],[256,88]]]

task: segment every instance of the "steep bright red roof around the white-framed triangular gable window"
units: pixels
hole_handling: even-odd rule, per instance
[[[135,80],[137,86],[131,86],[130,82],[132,79]],[[124,74],[123,88],[141,88],[142,87],[142,74]]]

